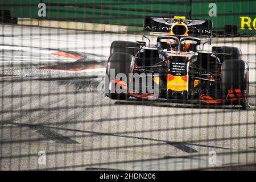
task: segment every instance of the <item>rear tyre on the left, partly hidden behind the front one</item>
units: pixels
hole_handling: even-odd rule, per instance
[[[133,47],[133,48],[129,48],[129,47]],[[136,49],[136,47],[139,48],[138,44],[135,42],[115,40],[111,44],[110,55],[112,55],[115,52],[122,52],[122,53],[129,53],[134,56],[138,52],[138,49]]]

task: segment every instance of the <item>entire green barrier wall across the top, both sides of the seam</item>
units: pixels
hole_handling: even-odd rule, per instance
[[[246,30],[241,32],[256,32],[253,27],[256,1],[215,1],[216,17],[208,15],[212,0],[2,0],[0,9],[11,10],[11,14],[19,18],[39,18],[40,2],[46,3],[47,14],[43,19],[142,27],[145,15],[167,18],[184,15],[192,19],[211,19],[214,30],[222,31],[225,24],[236,25],[240,30],[240,16],[249,16],[253,30],[245,26]]]

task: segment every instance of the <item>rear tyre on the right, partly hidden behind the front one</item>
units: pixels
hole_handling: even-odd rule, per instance
[[[224,54],[217,54],[218,58],[220,59],[221,63],[225,60],[241,60],[242,59],[242,52],[237,47],[229,47],[229,46],[221,46],[221,47],[212,47],[212,51],[216,53],[226,53]]]

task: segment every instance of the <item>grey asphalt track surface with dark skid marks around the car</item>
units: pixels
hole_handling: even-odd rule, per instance
[[[141,35],[0,30],[1,170],[213,167],[209,151],[217,166],[255,162],[255,42],[213,43],[245,53],[251,108],[240,110],[104,97],[111,42]],[[39,151],[46,164],[38,163]]]

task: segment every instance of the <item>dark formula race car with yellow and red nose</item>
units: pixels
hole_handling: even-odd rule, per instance
[[[209,38],[203,47],[211,43],[211,20],[146,16],[144,31],[167,35],[158,36],[154,47],[147,47],[146,42],[114,41],[105,96],[249,107],[249,67],[241,50],[228,46],[200,49],[199,37]]]

